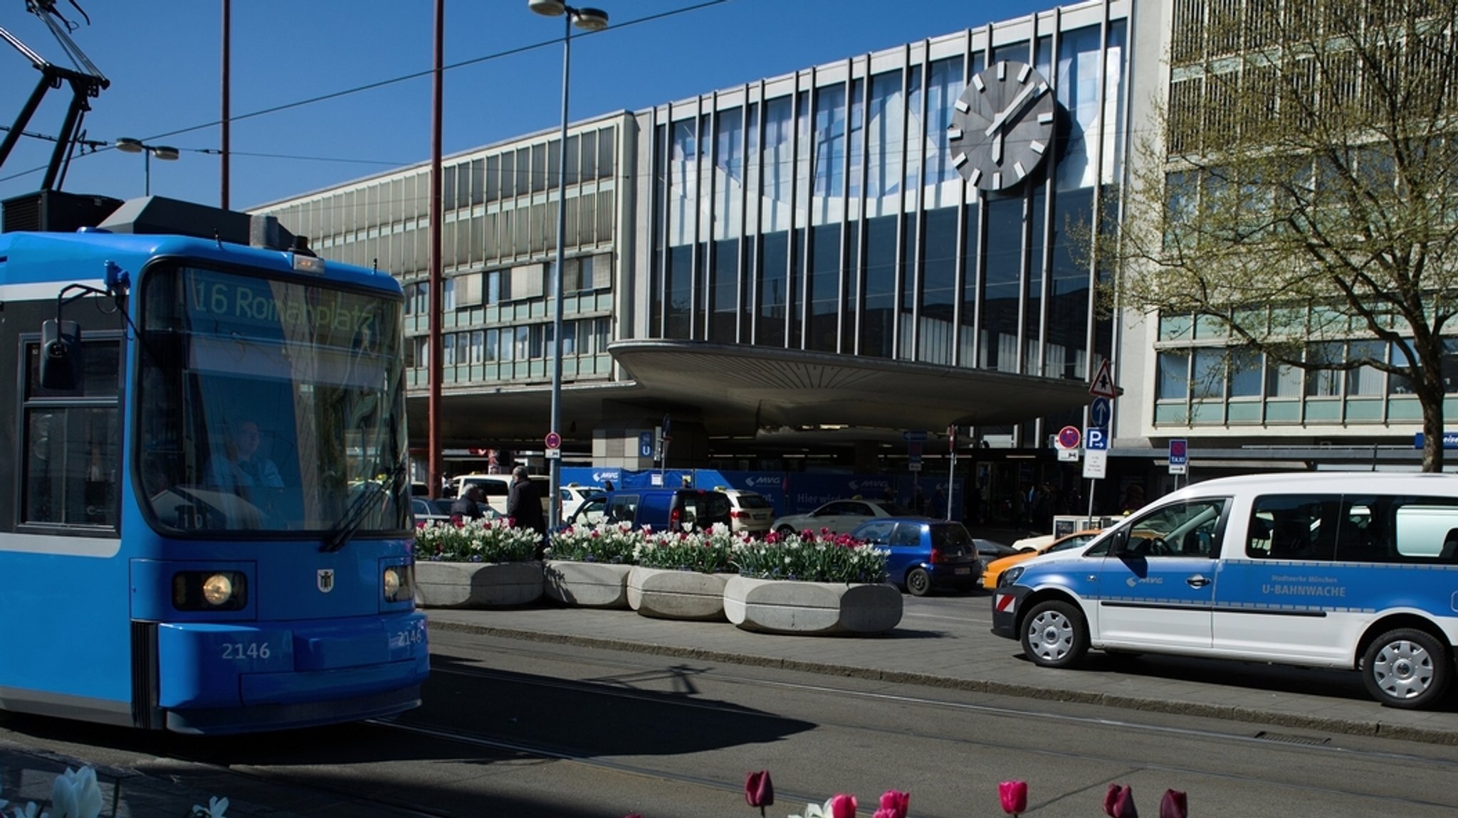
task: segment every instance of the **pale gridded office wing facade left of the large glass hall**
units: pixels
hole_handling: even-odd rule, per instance
[[[620,221],[624,118],[453,156],[442,167],[442,365],[446,384],[541,381],[551,364],[557,204],[566,195],[563,376],[605,380]],[[324,258],[388,269],[405,288],[407,383],[429,387],[430,169],[265,208]]]

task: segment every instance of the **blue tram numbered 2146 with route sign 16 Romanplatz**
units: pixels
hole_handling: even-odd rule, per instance
[[[417,706],[401,311],[382,271],[157,196],[0,234],[0,707],[229,734]]]

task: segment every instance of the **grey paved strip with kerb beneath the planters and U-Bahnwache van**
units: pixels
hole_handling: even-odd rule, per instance
[[[1096,651],[1076,670],[1040,668],[1015,642],[990,633],[986,595],[937,603],[907,598],[901,624],[889,635],[869,638],[773,636],[729,623],[553,604],[426,613],[433,630],[1458,745],[1458,690],[1438,710],[1398,710],[1369,699],[1360,677],[1350,671],[1175,656],[1134,659]]]

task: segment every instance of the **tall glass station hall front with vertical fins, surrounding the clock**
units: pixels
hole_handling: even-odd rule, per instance
[[[1124,131],[1127,31],[1104,10],[640,114],[653,140],[647,284],[663,304],[646,336],[1088,378],[1111,333],[1072,236],[1112,195]],[[1067,122],[1042,173],[980,194],[948,130],[968,77],[999,60],[1035,64]]]

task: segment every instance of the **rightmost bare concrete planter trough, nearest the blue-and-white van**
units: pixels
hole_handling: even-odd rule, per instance
[[[725,582],[725,617],[761,633],[882,633],[901,622],[901,591],[888,584],[732,576]]]

